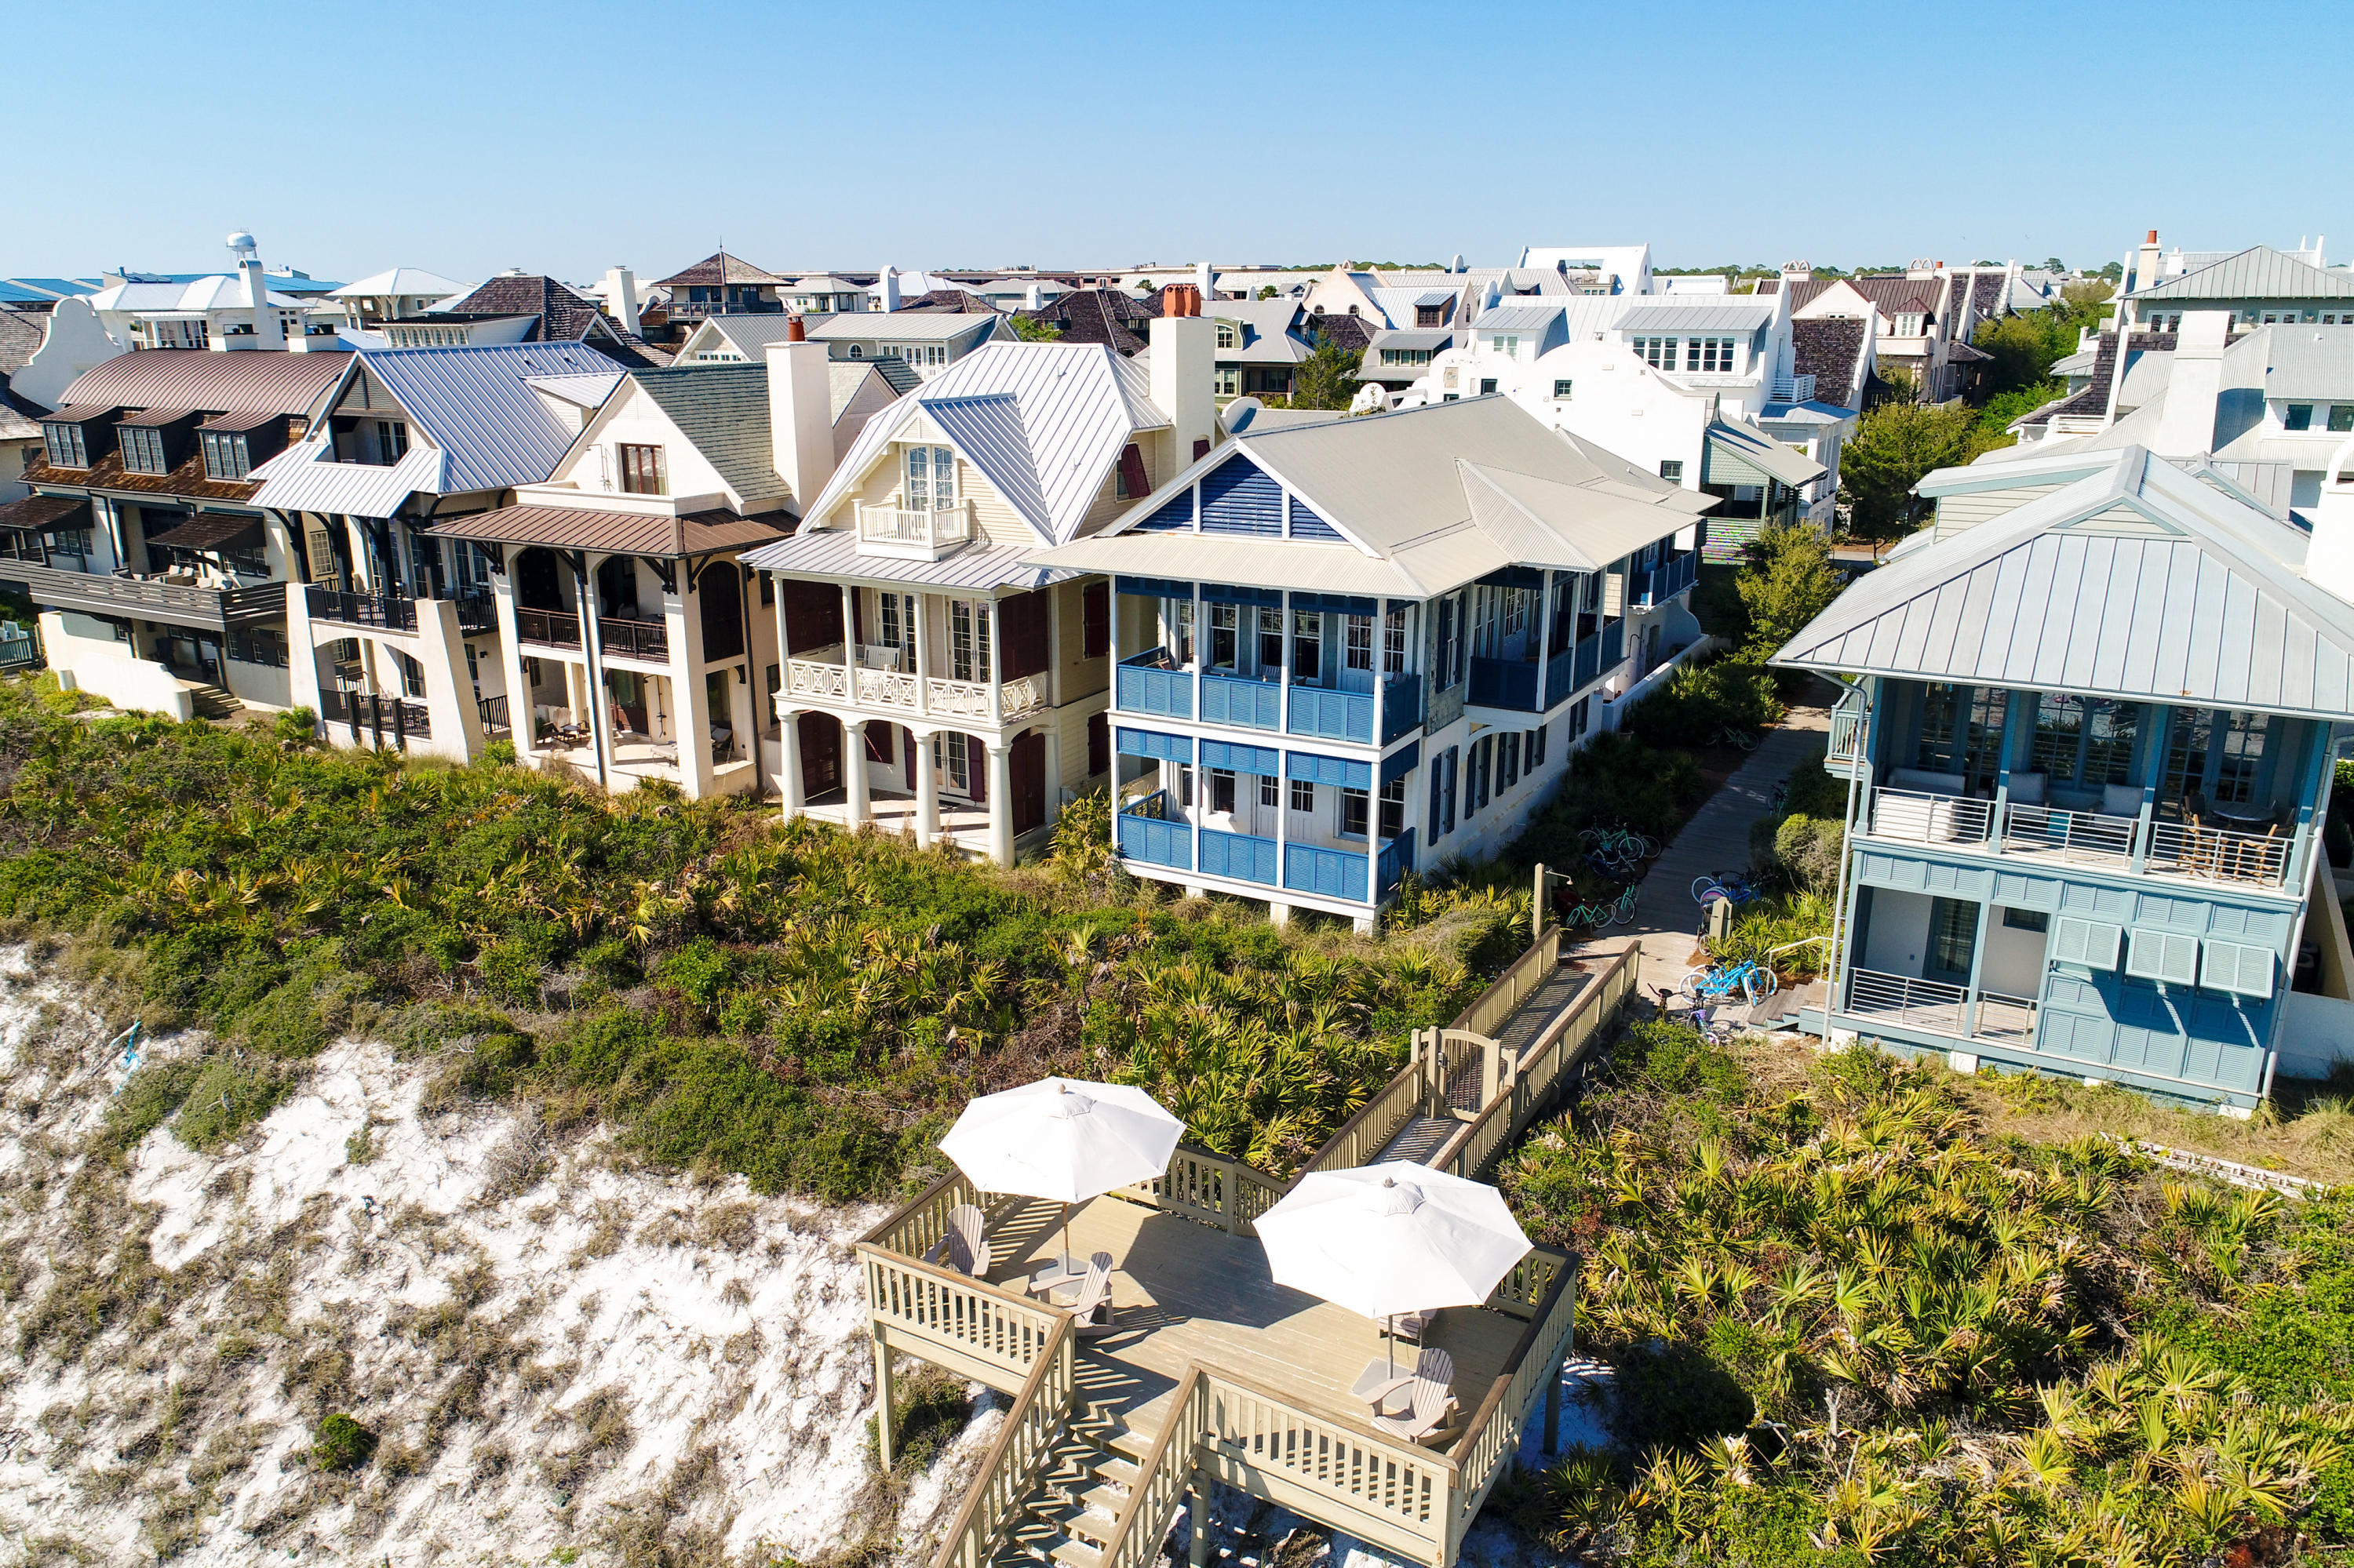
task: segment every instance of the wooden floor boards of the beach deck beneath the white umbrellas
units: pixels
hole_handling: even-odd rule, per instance
[[[998,1257],[989,1278],[1019,1288],[1052,1262],[1062,1250],[1059,1215],[1052,1203],[1024,1203],[991,1224]],[[1193,1361],[1262,1382],[1306,1410],[1365,1417],[1349,1384],[1365,1361],[1382,1356],[1379,1326],[1276,1285],[1257,1241],[1125,1198],[1095,1198],[1071,1217],[1071,1253],[1111,1253],[1116,1269],[1118,1330],[1080,1342],[1083,1396],[1137,1431],[1161,1429]],[[1438,1314],[1424,1342],[1455,1356],[1462,1415],[1485,1398],[1523,1328],[1521,1318],[1481,1307]],[[1401,1344],[1398,1354],[1410,1358],[1415,1347]]]

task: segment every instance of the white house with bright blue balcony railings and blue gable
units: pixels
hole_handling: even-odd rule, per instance
[[[1474,398],[1245,428],[1040,560],[1111,582],[1137,876],[1370,925],[1700,640],[1711,497]]]

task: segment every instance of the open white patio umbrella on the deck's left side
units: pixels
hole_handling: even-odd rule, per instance
[[[1085,1203],[1168,1170],[1184,1123],[1128,1083],[1040,1078],[965,1107],[939,1151],[982,1191]],[[1062,1224],[1064,1267],[1071,1220]]]

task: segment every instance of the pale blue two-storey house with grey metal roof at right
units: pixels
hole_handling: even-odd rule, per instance
[[[2354,1038],[2330,549],[2144,447],[1921,490],[1937,523],[1777,659],[1850,683],[1838,956],[1803,1022],[2232,1109],[2326,1071]]]

